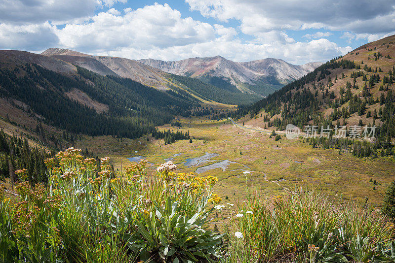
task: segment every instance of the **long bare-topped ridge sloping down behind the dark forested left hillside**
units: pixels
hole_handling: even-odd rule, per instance
[[[258,94],[243,94],[236,88],[228,89],[227,87],[217,85],[217,83],[204,83],[200,80],[191,80],[189,83],[194,84],[192,86],[186,86],[178,82],[173,74],[125,58],[91,56],[77,51],[59,48],[49,48],[42,52],[41,55],[81,66],[100,75],[115,75],[129,78],[159,90],[165,91],[170,89],[179,91],[181,89],[200,99],[202,102],[249,104],[262,98]],[[204,89],[198,87],[204,87]]]

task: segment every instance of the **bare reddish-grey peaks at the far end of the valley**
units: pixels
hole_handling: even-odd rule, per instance
[[[221,56],[180,61],[144,59],[138,62],[165,72],[199,78],[211,84],[226,82],[242,92],[268,95],[283,85],[314,70],[322,63],[292,65],[279,59],[233,62]]]

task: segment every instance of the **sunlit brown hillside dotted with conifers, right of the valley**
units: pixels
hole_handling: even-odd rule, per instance
[[[288,123],[300,128],[376,125],[376,141],[390,142],[395,137],[394,65],[392,35],[317,67],[235,116],[246,125],[278,130]]]

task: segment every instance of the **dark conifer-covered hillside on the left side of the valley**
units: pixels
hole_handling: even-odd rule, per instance
[[[8,53],[0,54],[5,57]],[[56,62],[72,73],[58,73],[26,60],[2,60],[0,97],[36,116],[37,122],[68,132],[140,137],[174,116],[190,116],[200,107],[188,93],[164,92],[128,78],[102,76],[56,58],[37,56],[36,61],[46,66],[53,65],[48,61]],[[4,119],[16,117],[5,113],[3,108]]]

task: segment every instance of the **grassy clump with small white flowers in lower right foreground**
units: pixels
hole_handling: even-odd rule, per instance
[[[395,262],[394,224],[376,212],[294,190],[263,200],[247,194],[226,224],[222,263]]]

